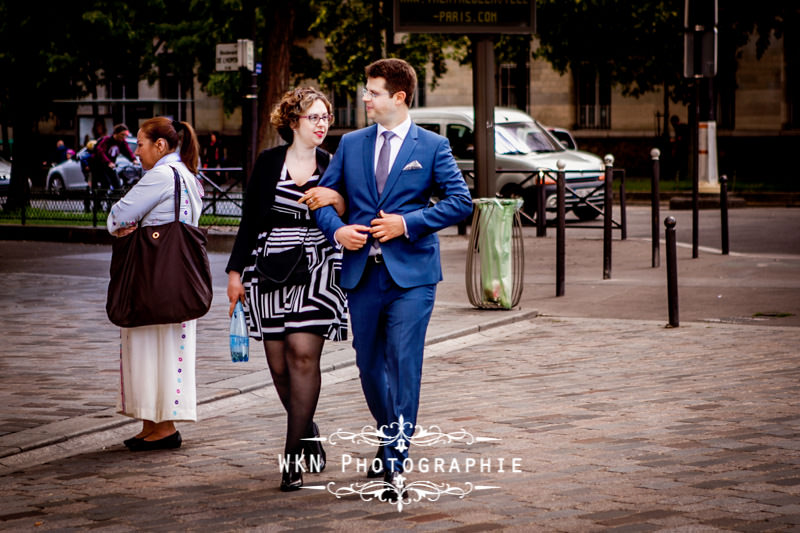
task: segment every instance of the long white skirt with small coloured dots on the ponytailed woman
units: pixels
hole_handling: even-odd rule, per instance
[[[153,422],[197,420],[196,322],[120,329],[119,413]]]

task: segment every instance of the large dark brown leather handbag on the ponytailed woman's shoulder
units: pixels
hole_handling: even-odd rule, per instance
[[[180,178],[172,172],[175,221],[140,227],[112,245],[106,313],[117,326],[177,324],[211,307],[208,231],[179,220]]]

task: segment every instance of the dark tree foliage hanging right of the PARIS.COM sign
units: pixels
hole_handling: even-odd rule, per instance
[[[535,56],[561,73],[604,72],[626,96],[667,87],[673,101],[686,102],[683,9],[684,0],[538,0]],[[760,57],[797,10],[791,0],[720,2],[719,56],[735,56],[755,33]]]

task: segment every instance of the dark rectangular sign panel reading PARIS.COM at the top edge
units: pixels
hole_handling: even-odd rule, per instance
[[[522,33],[536,31],[535,0],[394,0],[394,31]]]

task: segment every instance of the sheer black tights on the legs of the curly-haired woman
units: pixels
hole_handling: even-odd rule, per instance
[[[284,453],[299,454],[311,436],[322,377],[319,360],[325,339],[315,333],[290,333],[284,340],[265,340],[267,363],[275,390],[288,414]]]

